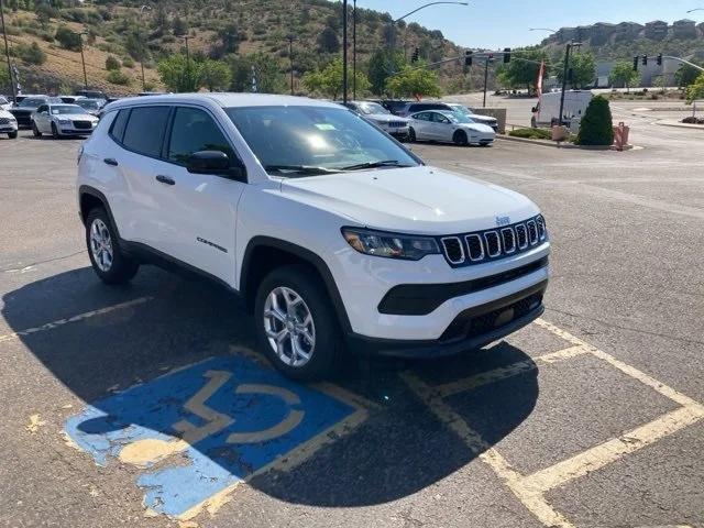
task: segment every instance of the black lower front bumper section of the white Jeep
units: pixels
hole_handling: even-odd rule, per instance
[[[530,324],[544,311],[543,280],[507,297],[461,312],[437,340],[377,339],[349,334],[348,348],[356,354],[406,359],[454,355],[481,349]]]

